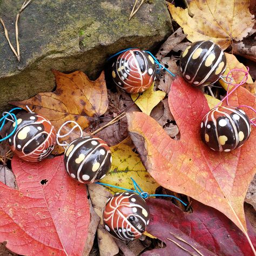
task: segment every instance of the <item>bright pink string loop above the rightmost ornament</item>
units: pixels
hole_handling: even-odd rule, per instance
[[[239,71],[239,72],[245,73],[245,76],[242,78],[242,80],[239,84],[232,84],[231,83],[231,81],[233,80],[233,77],[232,77],[232,72],[233,71]],[[219,106],[221,104],[221,102],[224,102],[224,100],[227,101],[227,105],[229,106],[230,104],[228,103],[228,96],[230,96],[235,90],[237,90],[239,86],[241,86],[242,84],[245,84],[248,80],[248,76],[249,76],[249,67],[248,66],[246,66],[246,70],[242,70],[242,69],[232,69],[232,70],[230,70],[227,73],[227,75],[225,76],[226,80],[223,79],[223,81],[227,84],[227,94],[215,107]],[[228,81],[227,79],[230,79],[230,80]],[[230,85],[234,86],[234,88],[231,91],[229,91]],[[254,113],[256,113],[256,110],[253,109],[253,107],[251,107],[251,106],[240,105],[238,107],[247,107],[248,109],[251,109]],[[256,120],[256,117],[252,118],[250,120],[250,122],[254,127],[256,127],[256,121],[254,121],[254,120]]]

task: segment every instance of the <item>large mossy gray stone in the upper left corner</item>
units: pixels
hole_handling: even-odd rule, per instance
[[[24,0],[0,0],[0,17],[15,45],[15,18]],[[51,91],[51,69],[82,70],[95,79],[107,57],[125,48],[154,49],[172,32],[164,0],[146,1],[128,21],[134,0],[32,1],[19,21],[21,62],[0,24],[0,110],[12,100]]]

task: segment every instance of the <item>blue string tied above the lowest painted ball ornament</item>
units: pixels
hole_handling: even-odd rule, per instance
[[[132,177],[131,177],[131,180],[133,182],[134,190],[129,190],[129,189],[124,188],[124,187],[118,187],[118,186],[114,186],[114,185],[110,185],[110,184],[106,184],[106,183],[101,183],[101,182],[96,182],[96,184],[103,185],[103,186],[108,186],[108,187],[114,187],[114,188],[118,188],[119,190],[125,190],[125,191],[132,192],[132,193],[137,193],[143,199],[147,199],[149,197],[172,197],[172,198],[175,198],[176,200],[180,201],[181,204],[187,206],[187,204],[184,203],[184,201],[180,200],[178,197],[171,196],[170,194],[149,194],[147,192],[144,192],[142,190],[142,188],[140,188],[140,186],[137,184],[137,182]]]

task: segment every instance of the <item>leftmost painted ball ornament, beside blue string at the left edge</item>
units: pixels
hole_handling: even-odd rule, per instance
[[[17,119],[17,130],[8,139],[11,151],[30,162],[46,158],[56,144],[56,132],[50,121],[36,113],[25,113]],[[11,125],[9,133],[15,128]]]

